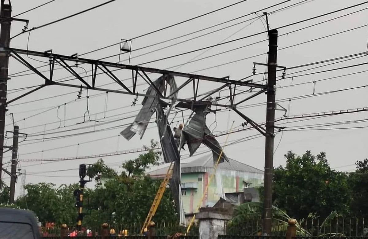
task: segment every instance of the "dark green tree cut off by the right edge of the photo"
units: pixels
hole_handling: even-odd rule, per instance
[[[357,161],[357,169],[349,174],[352,190],[351,213],[354,216],[368,216],[368,159]]]

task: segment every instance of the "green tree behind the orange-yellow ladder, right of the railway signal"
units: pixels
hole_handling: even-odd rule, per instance
[[[145,147],[148,151],[122,164],[120,174],[102,160],[92,165],[89,176],[99,183],[95,190],[85,192],[90,211],[85,216],[86,224],[96,227],[103,222],[111,225],[144,222],[161,183],[145,174],[146,169],[159,164],[160,152],[154,150],[156,146],[157,142],[151,141],[151,147]],[[97,174],[100,176],[96,177]],[[177,218],[172,195],[166,190],[153,220],[176,221]]]

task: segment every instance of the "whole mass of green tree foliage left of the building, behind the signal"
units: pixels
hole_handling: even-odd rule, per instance
[[[147,152],[123,163],[121,173],[109,168],[102,159],[89,166],[87,175],[95,178],[97,184],[93,189],[84,190],[83,225],[99,228],[105,222],[112,226],[144,223],[161,183],[145,174],[146,169],[158,165],[160,152],[154,150],[156,146],[157,142],[152,141],[151,147],[146,147]],[[78,214],[73,196],[77,188],[78,184],[60,187],[52,183],[27,184],[26,195],[18,198],[13,206],[32,210],[43,223],[67,223],[72,227]],[[7,201],[7,198],[4,200]],[[177,219],[173,197],[166,190],[153,220],[158,222]]]

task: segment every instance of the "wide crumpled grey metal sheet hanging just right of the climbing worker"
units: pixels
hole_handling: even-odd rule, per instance
[[[207,106],[203,105],[196,108],[195,115],[190,119],[188,124],[184,126],[183,135],[187,142],[190,156],[194,154],[202,143],[206,125],[206,109]]]

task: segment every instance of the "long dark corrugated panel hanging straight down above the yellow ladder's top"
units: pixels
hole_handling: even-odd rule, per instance
[[[164,161],[169,162],[179,162],[180,155],[174,139],[173,132],[170,129],[169,122],[167,121],[166,115],[163,112],[161,104],[158,104],[157,110],[157,126],[160,136],[160,144],[162,148],[162,154]]]

